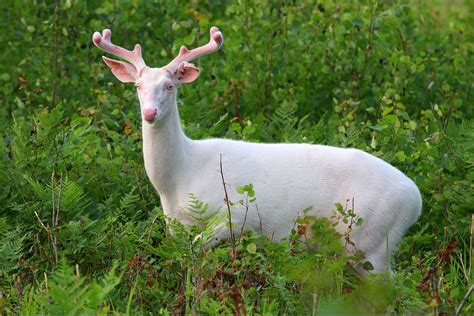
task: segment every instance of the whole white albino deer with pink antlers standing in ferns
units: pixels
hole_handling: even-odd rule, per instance
[[[183,224],[193,224],[185,211],[190,193],[208,203],[209,209],[225,211],[222,159],[229,199],[236,201],[236,188],[247,183],[253,184],[258,196],[258,212],[250,210],[245,223],[244,206],[236,205],[232,210],[234,229],[245,224],[281,239],[288,236],[304,209],[312,207],[311,214],[331,217],[336,203],[345,205],[353,200],[364,223],[354,229],[351,240],[365,251],[374,272],[386,271],[387,254],[421,213],[417,186],[398,169],[357,149],[191,140],[183,133],[177,91],[181,84],[199,76],[200,69],[190,62],[217,51],[224,43],[216,27],[210,33],[209,43],[193,50],[181,47],[178,56],[162,68],[146,66],[139,44],[133,51],[112,44],[108,29],[92,37],[97,47],[127,61],[103,57],[118,80],[133,82],[137,88],[145,169],[164,213]],[[217,239],[229,235],[229,229],[224,229]]]

